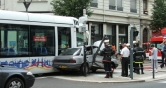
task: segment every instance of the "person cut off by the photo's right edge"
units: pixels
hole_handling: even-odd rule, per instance
[[[160,65],[160,67],[161,68],[163,68],[164,67],[164,64],[165,64],[165,66],[166,66],[166,55],[165,55],[165,53],[164,52],[166,52],[165,50],[164,50],[164,47],[166,46],[166,41],[164,40],[162,43],[161,43],[161,59],[162,59],[162,64]]]

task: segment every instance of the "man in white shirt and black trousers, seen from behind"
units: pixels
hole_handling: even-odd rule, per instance
[[[128,77],[128,59],[130,51],[125,43],[123,44],[123,49],[120,54],[120,59],[122,61],[122,77]]]

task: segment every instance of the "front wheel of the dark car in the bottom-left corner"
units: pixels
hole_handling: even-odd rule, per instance
[[[24,82],[20,78],[11,78],[5,88],[25,88]]]

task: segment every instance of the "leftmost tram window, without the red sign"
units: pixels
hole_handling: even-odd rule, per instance
[[[0,24],[1,50],[5,57],[28,56],[28,26]]]

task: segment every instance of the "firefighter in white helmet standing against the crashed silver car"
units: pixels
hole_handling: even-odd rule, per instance
[[[101,55],[104,56],[103,57],[103,64],[104,64],[104,70],[106,72],[106,76],[105,78],[109,78],[109,76],[111,76],[111,78],[113,77],[112,75],[112,70],[111,70],[111,56],[114,54],[114,51],[111,49],[111,47],[109,46],[109,40],[105,40],[104,41],[105,44],[105,48],[101,51]]]

